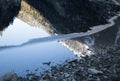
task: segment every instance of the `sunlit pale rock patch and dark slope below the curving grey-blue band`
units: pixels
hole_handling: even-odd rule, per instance
[[[107,50],[120,45],[118,18],[111,27],[89,36],[77,37],[70,40],[62,40],[60,43],[74,52],[78,56],[90,56],[93,54],[106,53]],[[100,29],[105,26],[101,26]],[[110,27],[110,28],[109,28]],[[98,30],[97,30],[98,31]],[[116,41],[117,40],[117,41]]]

